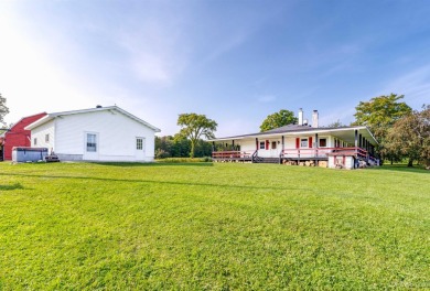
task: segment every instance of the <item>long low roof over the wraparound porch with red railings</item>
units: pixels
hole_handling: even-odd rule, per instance
[[[354,141],[355,141],[354,131],[355,130],[357,130],[358,133],[362,134],[362,137],[364,137],[368,141],[370,141],[372,144],[376,146],[378,143],[376,141],[375,137],[373,136],[373,133],[370,132],[370,130],[364,126],[341,127],[341,128],[313,128],[313,127],[309,127],[309,126],[298,126],[298,125],[288,125],[284,127],[276,128],[276,129],[264,131],[264,132],[217,138],[217,139],[211,139],[208,141],[245,140],[245,139],[252,139],[252,138],[279,138],[281,136],[298,137],[298,136],[303,136],[303,134],[318,133],[319,136],[323,136],[323,134],[334,136],[334,137],[340,138],[346,142],[354,143]]]

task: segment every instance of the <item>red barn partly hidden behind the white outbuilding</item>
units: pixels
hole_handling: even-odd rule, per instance
[[[31,130],[24,128],[34,121],[44,117],[46,112],[28,116],[21,118],[13,127],[4,134],[3,157],[4,160],[12,160],[13,147],[31,147]]]

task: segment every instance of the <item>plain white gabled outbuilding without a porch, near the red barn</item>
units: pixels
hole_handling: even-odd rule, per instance
[[[117,107],[49,114],[29,125],[31,147],[61,161],[151,162],[157,127]]]

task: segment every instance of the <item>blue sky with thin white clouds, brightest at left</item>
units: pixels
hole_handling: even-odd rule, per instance
[[[430,1],[0,1],[8,123],[118,105],[162,129],[204,114],[217,137],[303,108],[354,120],[361,100],[430,103]]]

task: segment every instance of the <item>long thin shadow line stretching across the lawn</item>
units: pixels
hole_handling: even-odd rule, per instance
[[[211,183],[197,183],[197,182],[173,182],[173,181],[157,181],[157,180],[137,180],[137,179],[111,179],[111,177],[96,177],[96,176],[61,176],[61,175],[36,175],[36,174],[14,174],[8,173],[0,176],[24,176],[24,177],[52,177],[52,179],[71,179],[71,180],[93,180],[104,182],[122,182],[122,183],[153,183],[153,184],[166,184],[166,185],[179,185],[179,186],[205,186],[205,187],[225,187],[225,188],[250,188],[250,190],[270,190],[270,191],[310,191],[319,192],[318,188],[311,187],[279,187],[279,186],[251,186],[251,185],[230,185],[230,184],[211,184]]]

